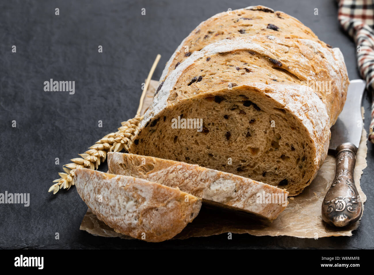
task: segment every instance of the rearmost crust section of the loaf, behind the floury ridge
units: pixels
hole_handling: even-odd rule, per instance
[[[228,10],[212,16],[191,31],[166,63],[160,82],[164,81],[171,71],[193,52],[200,51],[211,43],[227,38],[251,37],[257,34],[291,40],[294,38],[309,39],[324,47],[329,47],[320,41],[310,28],[284,12],[274,11],[264,6]]]

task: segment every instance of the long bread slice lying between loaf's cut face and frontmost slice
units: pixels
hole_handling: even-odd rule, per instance
[[[134,176],[175,187],[224,208],[274,220],[287,206],[283,189],[249,178],[168,159],[126,153],[108,153],[109,172]],[[265,203],[260,198],[274,201]]]

